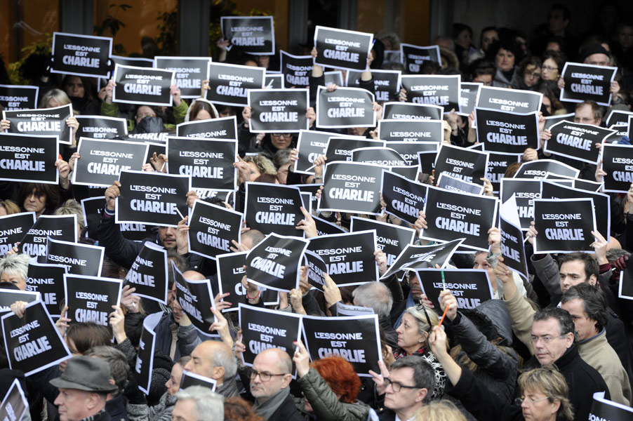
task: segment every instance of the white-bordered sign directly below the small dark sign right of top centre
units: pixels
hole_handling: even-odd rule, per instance
[[[407,102],[414,104],[439,105],[448,112],[460,110],[459,74],[407,75],[402,76],[402,87],[406,90]]]

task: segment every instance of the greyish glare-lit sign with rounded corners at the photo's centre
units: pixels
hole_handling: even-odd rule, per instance
[[[378,190],[382,183],[382,167],[357,162],[327,163],[323,180],[319,212],[380,213]]]

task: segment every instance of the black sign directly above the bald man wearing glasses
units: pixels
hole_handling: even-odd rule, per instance
[[[301,333],[299,314],[262,309],[239,303],[239,326],[242,343],[246,352],[242,353],[242,363],[252,367],[255,356],[265,349],[279,348],[292,358]]]

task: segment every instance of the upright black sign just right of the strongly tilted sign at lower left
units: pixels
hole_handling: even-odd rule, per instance
[[[112,306],[121,302],[121,279],[64,274],[64,298],[70,323],[92,322],[109,326]]]

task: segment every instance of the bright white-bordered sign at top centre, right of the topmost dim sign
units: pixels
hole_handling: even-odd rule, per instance
[[[314,46],[317,48],[315,65],[338,69],[364,71],[373,34],[348,31],[317,25],[314,29]]]

